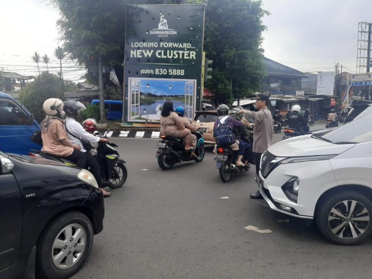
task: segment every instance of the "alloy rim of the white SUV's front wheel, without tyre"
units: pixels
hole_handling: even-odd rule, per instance
[[[357,201],[346,200],[335,205],[329,215],[328,224],[332,233],[342,239],[361,236],[370,223],[366,207]]]

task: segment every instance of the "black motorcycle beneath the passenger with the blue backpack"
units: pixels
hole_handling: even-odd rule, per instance
[[[248,141],[246,141],[248,142]],[[249,148],[251,148],[250,143]],[[229,182],[234,173],[240,173],[247,171],[249,165],[237,166],[238,154],[230,147],[217,146],[217,154],[213,160],[217,161],[216,167],[219,169],[220,178],[223,182]],[[249,160],[249,162],[252,162]]]

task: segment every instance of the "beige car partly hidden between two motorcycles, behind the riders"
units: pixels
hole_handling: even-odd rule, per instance
[[[218,119],[216,111],[200,111],[195,112],[194,121],[195,126],[200,128],[204,136],[204,144],[215,144],[216,140],[213,137],[214,122]],[[197,120],[199,120],[198,123]]]

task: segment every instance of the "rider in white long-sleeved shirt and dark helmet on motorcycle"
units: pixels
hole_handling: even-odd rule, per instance
[[[97,160],[93,157],[90,152],[84,148],[82,141],[85,140],[87,142],[95,142],[98,143],[99,141],[108,142],[109,140],[106,138],[96,137],[83,128],[83,126],[76,121],[75,117],[79,116],[80,112],[85,110],[86,107],[78,101],[66,101],[63,103],[63,108],[66,113],[65,119],[65,128],[67,132],[67,137],[70,142],[73,144],[79,145],[81,148],[81,152],[85,153],[85,166],[84,168],[88,169],[92,172],[93,176],[97,180],[97,184],[99,190],[102,191],[104,197],[110,197],[110,193],[105,191],[102,188],[102,176],[101,176],[101,167],[98,164]]]

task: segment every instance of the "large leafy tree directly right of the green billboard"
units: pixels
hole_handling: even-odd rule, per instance
[[[215,68],[208,88],[219,102],[228,95],[226,100],[247,96],[260,87],[264,78],[262,17],[268,12],[262,9],[261,0],[208,0],[207,3],[204,51]],[[225,86],[227,83],[230,89]]]

